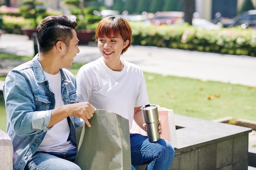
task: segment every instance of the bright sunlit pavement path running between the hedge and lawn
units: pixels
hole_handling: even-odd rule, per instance
[[[79,48],[74,62],[91,62],[101,56],[94,42]],[[2,34],[0,51],[32,56],[34,44],[26,35]],[[154,46],[131,46],[122,57],[149,73],[256,87],[256,57]]]

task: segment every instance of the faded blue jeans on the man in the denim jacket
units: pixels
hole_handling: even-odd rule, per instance
[[[67,152],[36,152],[28,161],[25,170],[81,170],[74,163],[77,149]]]

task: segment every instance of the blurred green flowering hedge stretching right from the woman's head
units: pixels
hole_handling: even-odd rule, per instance
[[[256,56],[256,30],[222,28],[204,30],[188,24],[145,25],[130,22],[133,44],[213,53]]]

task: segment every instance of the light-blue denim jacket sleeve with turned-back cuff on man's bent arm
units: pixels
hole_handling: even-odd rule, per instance
[[[32,86],[31,80],[19,71],[11,71],[4,84],[7,120],[20,136],[49,130],[47,125],[52,112],[49,108],[52,94]],[[41,105],[40,109],[36,107],[38,104]]]

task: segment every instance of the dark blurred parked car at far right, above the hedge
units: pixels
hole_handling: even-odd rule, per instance
[[[243,25],[244,28],[247,28],[256,24],[256,10],[245,11],[233,19],[222,18],[217,24],[223,27]]]

